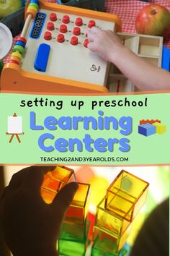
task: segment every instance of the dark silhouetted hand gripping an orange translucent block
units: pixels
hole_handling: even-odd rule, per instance
[[[40,187],[43,174],[53,168],[24,168],[12,176],[0,197],[1,229],[14,256],[58,255],[56,241],[61,223],[78,185],[67,184],[52,204],[46,204]]]

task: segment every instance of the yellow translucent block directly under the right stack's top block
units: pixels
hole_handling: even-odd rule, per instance
[[[110,210],[104,208],[105,197],[97,205],[97,214],[95,225],[101,227],[102,229],[109,231],[111,234],[116,236],[121,236],[128,226],[130,226],[130,221],[126,221],[125,218],[117,216]]]

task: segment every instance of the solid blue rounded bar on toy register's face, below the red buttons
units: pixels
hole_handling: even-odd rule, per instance
[[[35,57],[35,69],[41,72],[45,72],[48,64],[48,57],[50,54],[50,46],[46,43],[41,43],[37,48],[37,54]]]

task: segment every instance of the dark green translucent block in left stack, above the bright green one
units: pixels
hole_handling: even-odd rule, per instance
[[[64,222],[61,227],[60,239],[73,240],[73,241],[82,241],[86,239],[86,221],[84,224],[73,224]]]

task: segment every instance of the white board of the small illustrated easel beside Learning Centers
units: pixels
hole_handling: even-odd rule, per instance
[[[22,116],[8,116],[8,133],[22,133]]]

